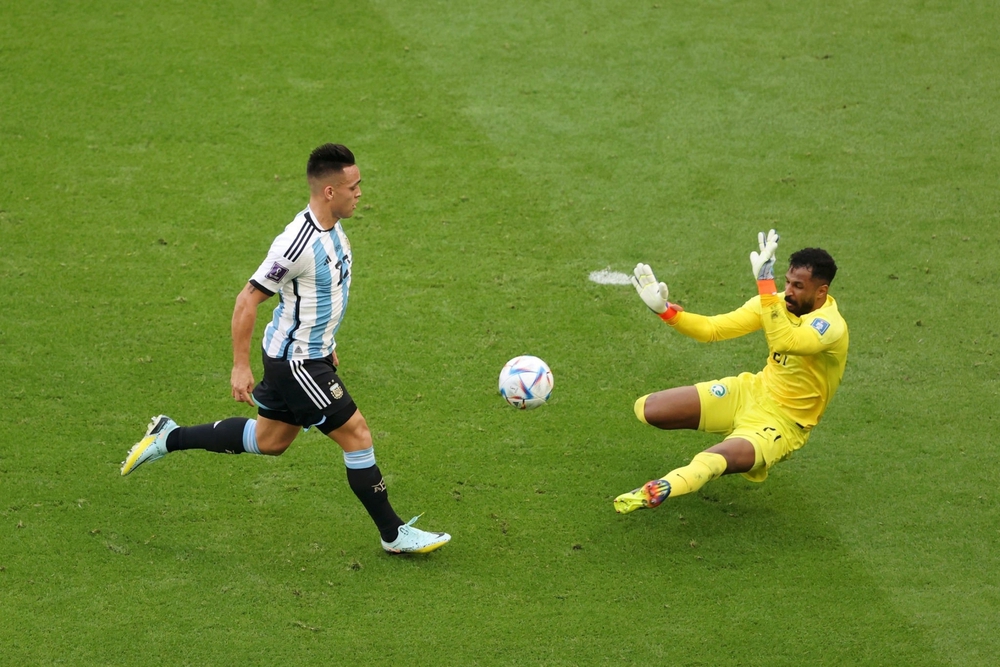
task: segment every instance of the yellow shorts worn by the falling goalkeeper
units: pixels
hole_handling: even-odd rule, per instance
[[[759,373],[740,373],[695,387],[701,400],[698,430],[748,440],[757,451],[757,463],[742,474],[753,482],[767,479],[771,466],[790,457],[809,439],[809,429],[792,421],[768,398]]]

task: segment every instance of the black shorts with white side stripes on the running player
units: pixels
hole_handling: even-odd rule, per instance
[[[287,361],[262,356],[264,377],[253,390],[261,417],[329,433],[357,412],[329,357]]]

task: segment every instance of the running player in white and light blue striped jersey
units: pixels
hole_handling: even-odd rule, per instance
[[[375,522],[382,548],[433,551],[451,536],[415,528],[416,517],[404,523],[397,516],[368,424],[337,375],[335,335],[347,308],[352,264],[341,221],[357,207],[361,172],[345,146],[325,144],[309,156],[306,178],[309,205],[274,239],[233,311],[232,395],[256,406],[257,419],[178,426],[165,415],[154,417],[121,474],[183,449],[278,456],[303,428],[315,426],[343,449],[348,483]],[[275,294],[278,305],[264,331],[264,377],[255,387],[250,346],[257,310]]]

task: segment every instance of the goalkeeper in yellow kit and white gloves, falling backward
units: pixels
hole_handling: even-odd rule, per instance
[[[725,315],[684,312],[667,301],[667,286],[646,264],[632,279],[639,296],[664,322],[709,343],[764,330],[764,370],[713,382],[675,387],[635,402],[640,421],[662,429],[698,429],[725,439],[660,479],[615,498],[621,514],[656,507],[672,496],[697,491],[721,475],[741,473],[763,482],[775,463],[806,444],[830,403],[847,363],[847,323],[829,294],[837,265],[829,253],[805,248],[789,258],[784,294],[774,283],[778,235],[758,235],[750,254],[758,296]]]

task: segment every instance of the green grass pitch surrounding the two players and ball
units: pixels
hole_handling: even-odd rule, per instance
[[[3,3],[0,664],[993,663],[998,25],[985,0]],[[397,510],[454,536],[426,557],[381,552],[315,432],[118,473],[151,415],[250,416],[233,301],[327,141],[364,177],[342,377]],[[728,311],[772,226],[841,266],[840,393],[765,484],[616,515],[714,444],[633,400],[766,347],[588,274],[645,261]],[[531,413],[496,393],[524,353],[556,378]]]

